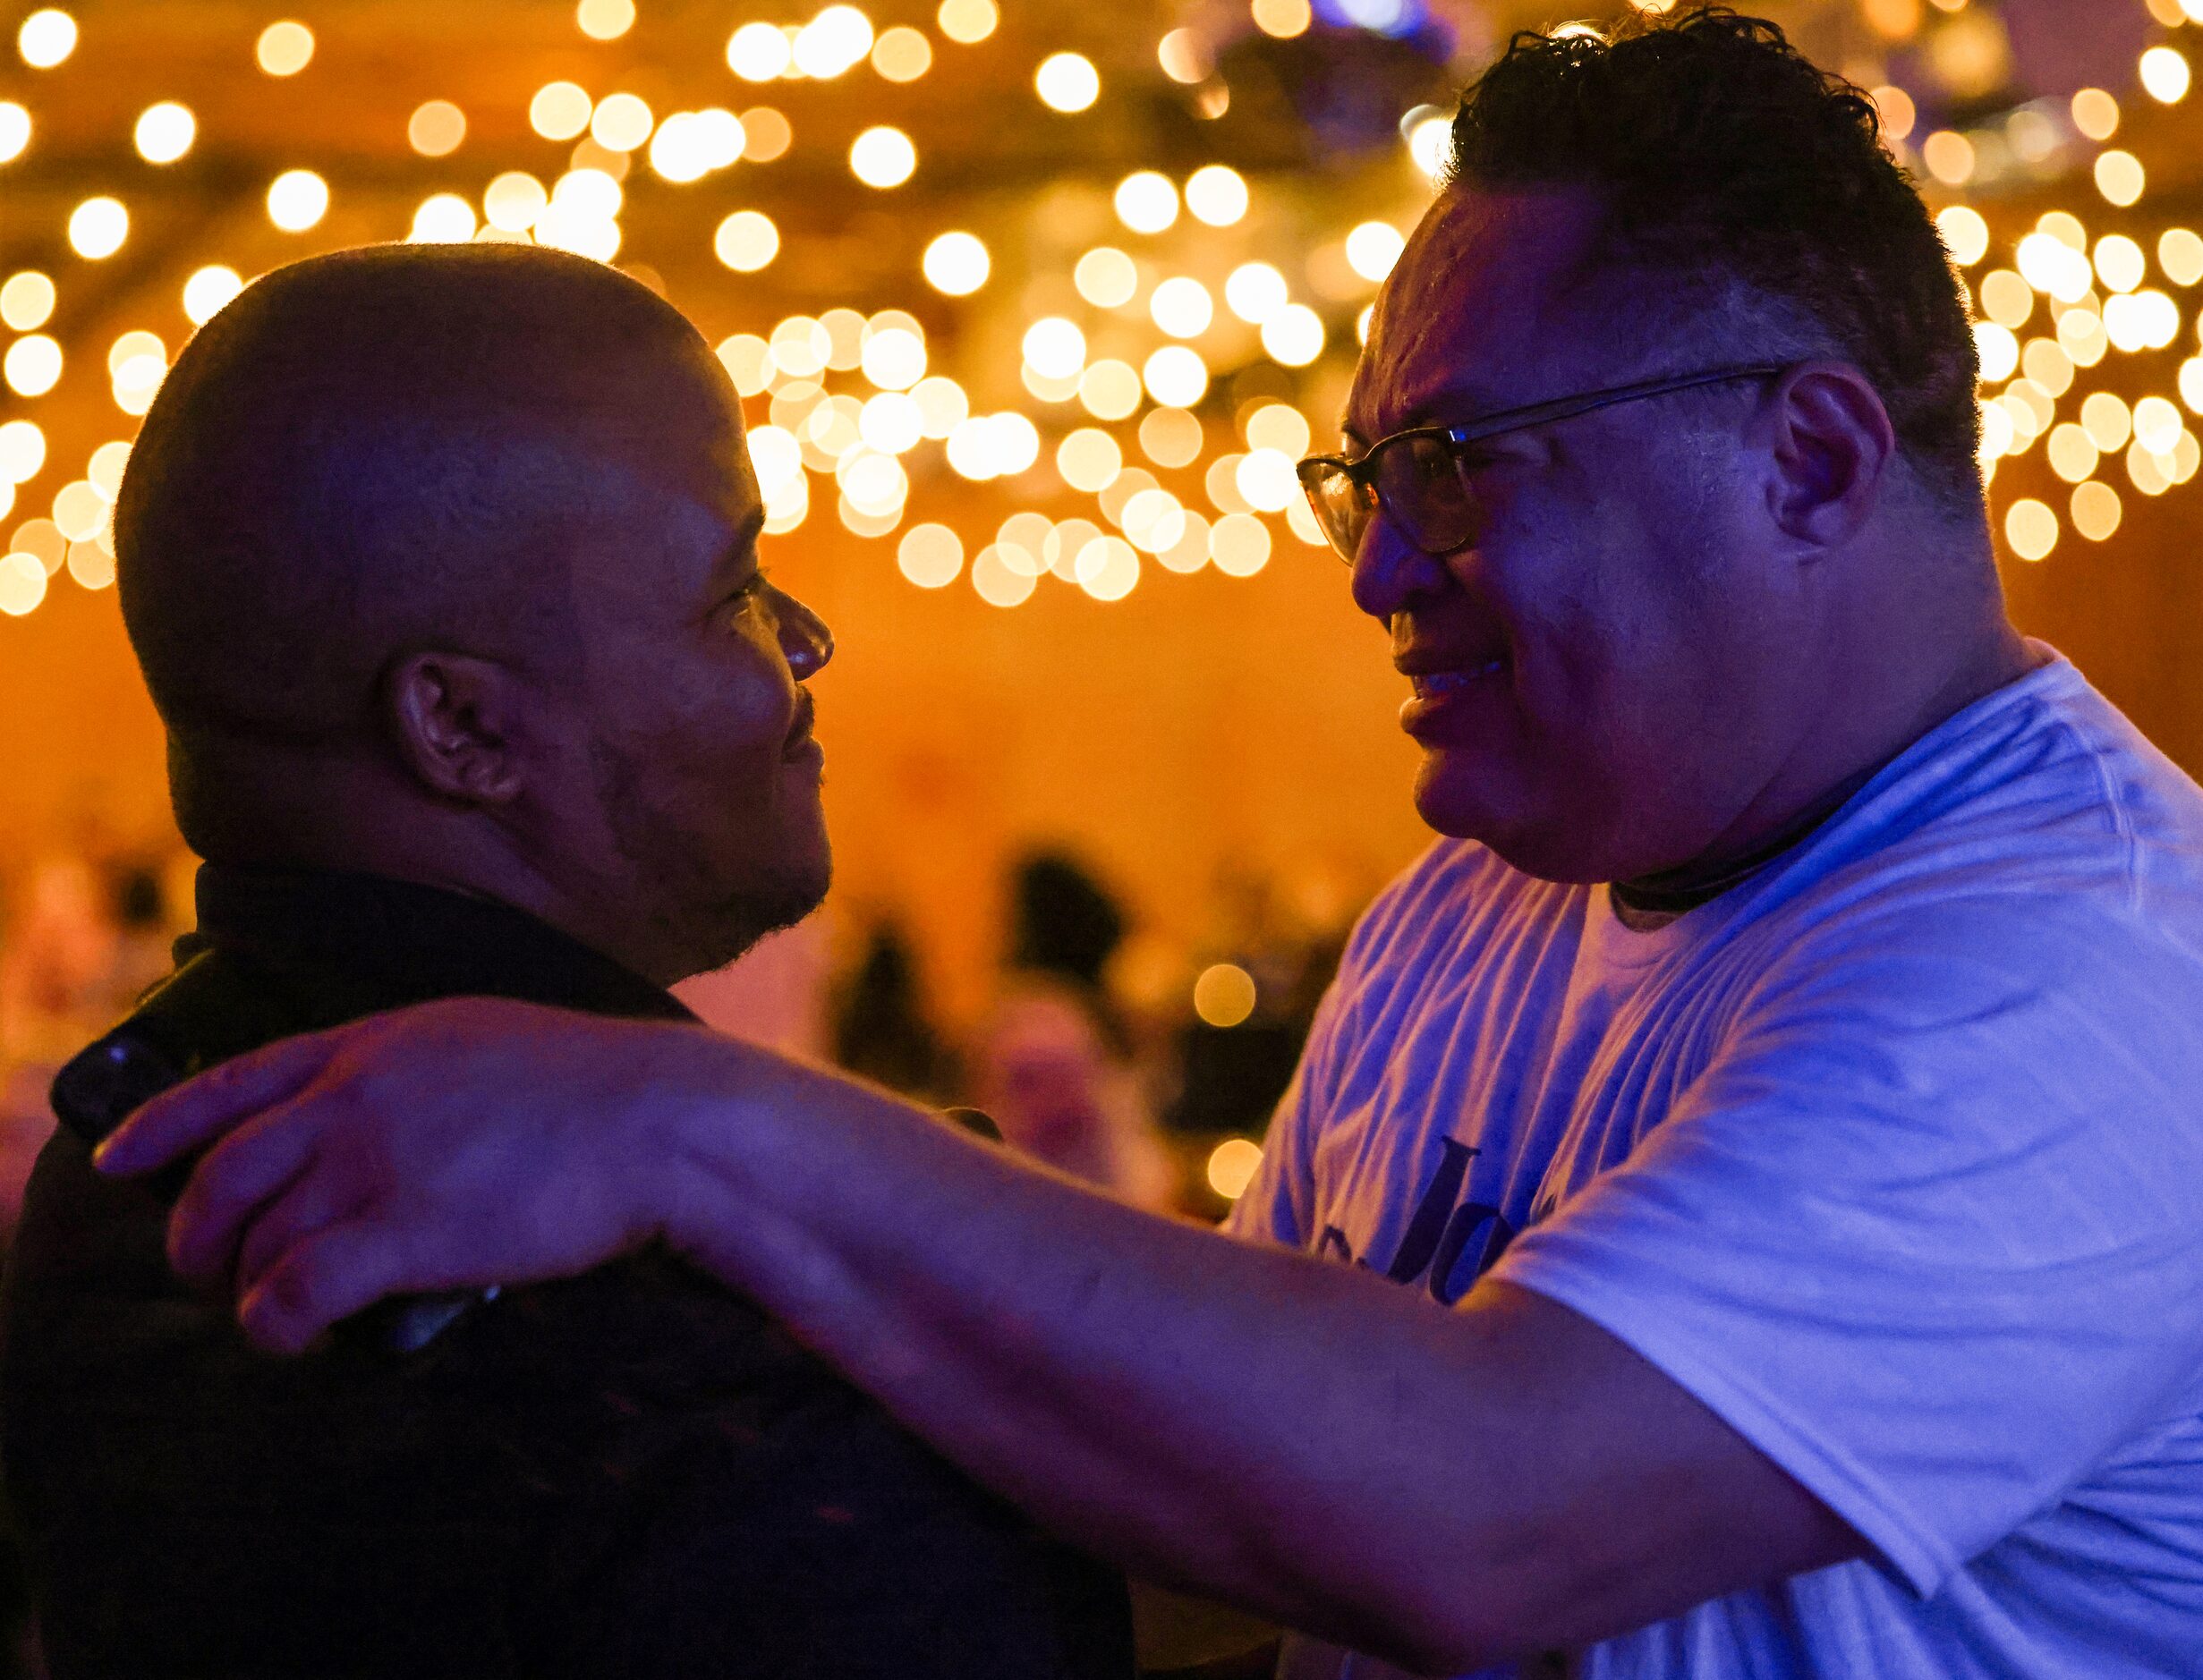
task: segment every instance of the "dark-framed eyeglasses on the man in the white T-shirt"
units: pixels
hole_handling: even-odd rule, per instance
[[[1476,484],[1469,480],[1467,451],[1472,445],[1502,432],[1573,421],[1577,414],[1615,403],[1641,403],[1646,396],[1725,385],[1732,379],[1771,379],[1780,372],[1787,372],[1787,363],[1712,368],[1674,379],[1648,379],[1639,385],[1613,385],[1580,396],[1555,396],[1529,407],[1509,407],[1472,425],[1419,425],[1412,432],[1379,438],[1357,460],[1309,456],[1298,469],[1300,487],[1309,493],[1315,522],[1348,566],[1355,564],[1361,535],[1379,511],[1425,555],[1450,555],[1476,539],[1480,522]]]

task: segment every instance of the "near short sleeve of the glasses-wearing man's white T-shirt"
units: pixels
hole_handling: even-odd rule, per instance
[[[2196,967],[2055,901],[1802,945],[1494,1275],[1635,1348],[1928,1596],[2194,1405]]]

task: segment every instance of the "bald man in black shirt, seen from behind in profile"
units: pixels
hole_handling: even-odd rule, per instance
[[[725,372],[610,269],[386,247],[247,288],[117,504],[207,859],[128,1041],[183,1072],[449,995],[687,1019],[665,986],[828,879],[831,639],[760,524]],[[293,1365],[165,1220],[66,1127],[29,1191],[0,1400],[55,1680],[1130,1671],[1117,1577],[665,1253]]]

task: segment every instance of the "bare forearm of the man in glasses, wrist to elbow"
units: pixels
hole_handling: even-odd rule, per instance
[[[749,1081],[690,1116],[681,1158],[687,1253],[1051,1526],[1392,1651],[1425,1647],[1436,1583],[1410,1552],[1439,1557],[1445,1614],[1474,1621],[1458,1588],[1509,1477],[1461,1436],[1472,1323],[839,1079]]]

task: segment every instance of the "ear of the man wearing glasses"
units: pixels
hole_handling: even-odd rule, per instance
[[[1773,473],[1767,511],[1811,548],[1848,542],[1890,482],[1897,432],[1881,394],[1846,361],[1802,361],[1762,410]]]

